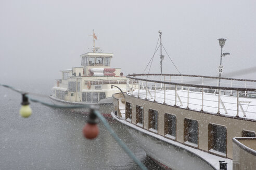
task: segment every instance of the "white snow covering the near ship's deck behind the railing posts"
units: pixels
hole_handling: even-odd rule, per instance
[[[147,93],[148,101],[156,101],[157,103],[165,103],[170,106],[175,105],[175,90],[164,90],[157,89],[156,97],[155,90],[148,89],[136,89],[133,92],[127,92],[127,95],[132,95],[135,97],[145,99]],[[189,97],[188,97],[189,95]],[[220,102],[220,114],[235,117],[237,115],[237,96],[223,95],[221,93]],[[211,114],[216,114],[219,105],[219,94],[203,92],[203,105],[202,105],[202,92],[189,91],[188,90],[177,90],[176,106],[181,108],[189,108],[191,110],[209,112]],[[241,118],[256,120],[256,99],[249,97],[239,97],[238,99],[239,114]],[[189,104],[188,104],[189,103]],[[240,105],[239,105],[240,104]],[[224,107],[226,108],[226,111]],[[242,111],[244,110],[244,111]]]

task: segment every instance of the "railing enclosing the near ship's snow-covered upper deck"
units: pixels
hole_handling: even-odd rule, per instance
[[[127,76],[127,95],[171,106],[256,119],[256,80],[174,74]]]

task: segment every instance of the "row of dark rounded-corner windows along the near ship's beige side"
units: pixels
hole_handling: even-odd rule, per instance
[[[136,125],[143,127],[144,108],[136,106]],[[132,104],[125,104],[125,119],[129,122],[132,120]],[[158,111],[148,110],[148,129],[158,133]],[[176,116],[172,114],[164,114],[164,136],[176,139]],[[242,137],[255,137],[255,132],[243,130]],[[227,130],[225,126],[208,124],[208,149],[212,152],[226,153],[227,147]],[[192,119],[184,119],[184,143],[190,146],[198,147],[198,121]]]

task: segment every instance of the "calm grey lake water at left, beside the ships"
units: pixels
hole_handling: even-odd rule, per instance
[[[5,83],[5,82],[1,82]],[[21,90],[49,95],[52,82],[10,83]],[[47,97],[37,97],[51,103]],[[19,116],[21,95],[0,87],[0,169],[139,169],[99,123],[94,140],[83,137],[86,116],[75,110],[31,103],[33,113]],[[125,127],[109,121],[113,130],[149,169],[161,169],[138,146]]]

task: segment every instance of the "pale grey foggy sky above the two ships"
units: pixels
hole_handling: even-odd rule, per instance
[[[113,52],[111,67],[143,73],[162,43],[182,74],[217,75],[226,38],[224,72],[256,66],[255,1],[0,1],[0,82],[52,81],[81,66],[96,46]],[[150,73],[160,73],[159,52]],[[177,74],[165,54],[163,73]],[[255,79],[256,73],[236,76]],[[53,82],[50,82],[53,83]]]

